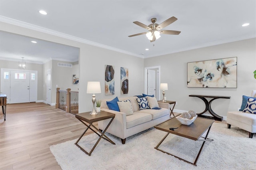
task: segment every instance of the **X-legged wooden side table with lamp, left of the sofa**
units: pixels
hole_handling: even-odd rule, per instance
[[[112,140],[110,140],[110,138],[108,138],[105,135],[106,130],[108,129],[109,125],[112,123],[113,119],[115,117],[115,114],[113,113],[108,113],[106,111],[100,111],[98,115],[90,115],[90,112],[85,112],[85,113],[79,113],[76,114],[76,119],[78,119],[80,122],[82,122],[87,128],[84,130],[84,132],[82,133],[82,135],[78,138],[78,140],[76,141],[76,146],[78,146],[84,153],[88,154],[89,156],[91,156],[92,151],[95,149],[95,147],[97,146],[97,144],[100,142],[101,138],[104,138],[105,140],[107,140],[108,142],[115,144]],[[108,126],[105,128],[105,130],[103,130],[103,132],[100,131],[100,129],[96,128],[94,125],[92,125],[92,123],[94,122],[98,122],[98,121],[102,121],[105,119],[110,119],[111,121],[108,123]],[[88,123],[89,125],[87,125],[86,123]],[[98,134],[98,132],[96,132],[94,129],[91,128],[91,126],[96,129],[100,134]],[[92,150],[90,152],[87,152],[86,150],[84,150],[81,146],[79,146],[78,142],[79,140],[82,138],[82,136],[84,136],[85,132],[88,129],[91,129],[94,133],[98,134],[99,139],[97,140],[96,144],[94,144],[94,146],[92,147]],[[103,137],[104,136],[104,137]]]

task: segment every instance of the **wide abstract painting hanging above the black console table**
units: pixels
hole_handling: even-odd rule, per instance
[[[188,63],[187,87],[237,88],[237,57]]]

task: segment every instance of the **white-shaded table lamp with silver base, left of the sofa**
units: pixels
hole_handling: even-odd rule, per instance
[[[95,102],[96,102],[95,93],[101,93],[100,82],[99,81],[88,81],[86,93],[91,93],[91,94],[93,93],[93,95],[92,95],[93,108],[92,108],[90,115],[98,115],[98,113],[95,111]]]

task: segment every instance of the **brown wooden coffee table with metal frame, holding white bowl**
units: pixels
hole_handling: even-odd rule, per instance
[[[204,119],[204,118],[200,118],[200,117],[197,117],[196,120],[190,125],[182,125],[175,117],[171,118],[171,119],[168,119],[167,121],[154,126],[158,130],[162,130],[162,131],[167,132],[167,134],[164,136],[164,138],[162,138],[162,140],[158,143],[158,145],[155,147],[155,149],[160,150],[164,153],[170,154],[170,153],[158,148],[160,146],[160,144],[165,140],[165,138],[170,133],[176,134],[178,136],[182,136],[184,138],[192,139],[192,140],[195,140],[195,141],[204,141],[200,150],[199,150],[199,152],[198,152],[198,154],[197,154],[197,156],[196,156],[196,160],[194,161],[194,163],[188,162],[187,160],[184,160],[182,158],[179,158],[178,156],[170,154],[170,155],[174,156],[175,158],[178,158],[180,160],[183,160],[187,163],[190,163],[190,164],[193,164],[194,166],[196,166],[196,162],[197,162],[198,157],[199,157],[199,155],[202,151],[204,143],[206,141],[212,141],[213,140],[213,139],[207,138],[207,136],[210,132],[210,129],[212,127],[212,123],[214,123],[214,120]],[[171,127],[178,127],[178,128],[176,128],[174,130],[170,130],[169,128],[171,128]],[[206,136],[202,137],[202,135],[204,134],[204,132],[206,132],[206,130],[208,130]],[[204,139],[200,139],[200,138],[204,138]]]

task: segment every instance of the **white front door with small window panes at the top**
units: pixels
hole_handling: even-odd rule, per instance
[[[11,71],[10,103],[29,102],[29,72]]]

